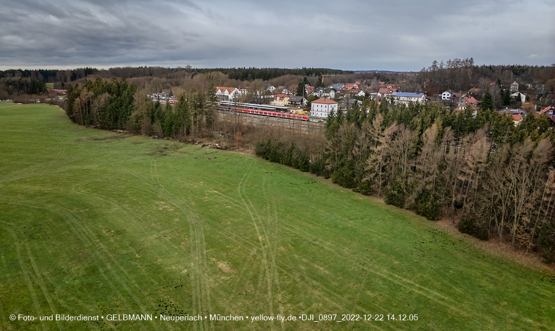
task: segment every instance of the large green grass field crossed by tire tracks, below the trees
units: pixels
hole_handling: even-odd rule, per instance
[[[552,275],[432,225],[278,164],[0,103],[1,330],[555,329]]]

